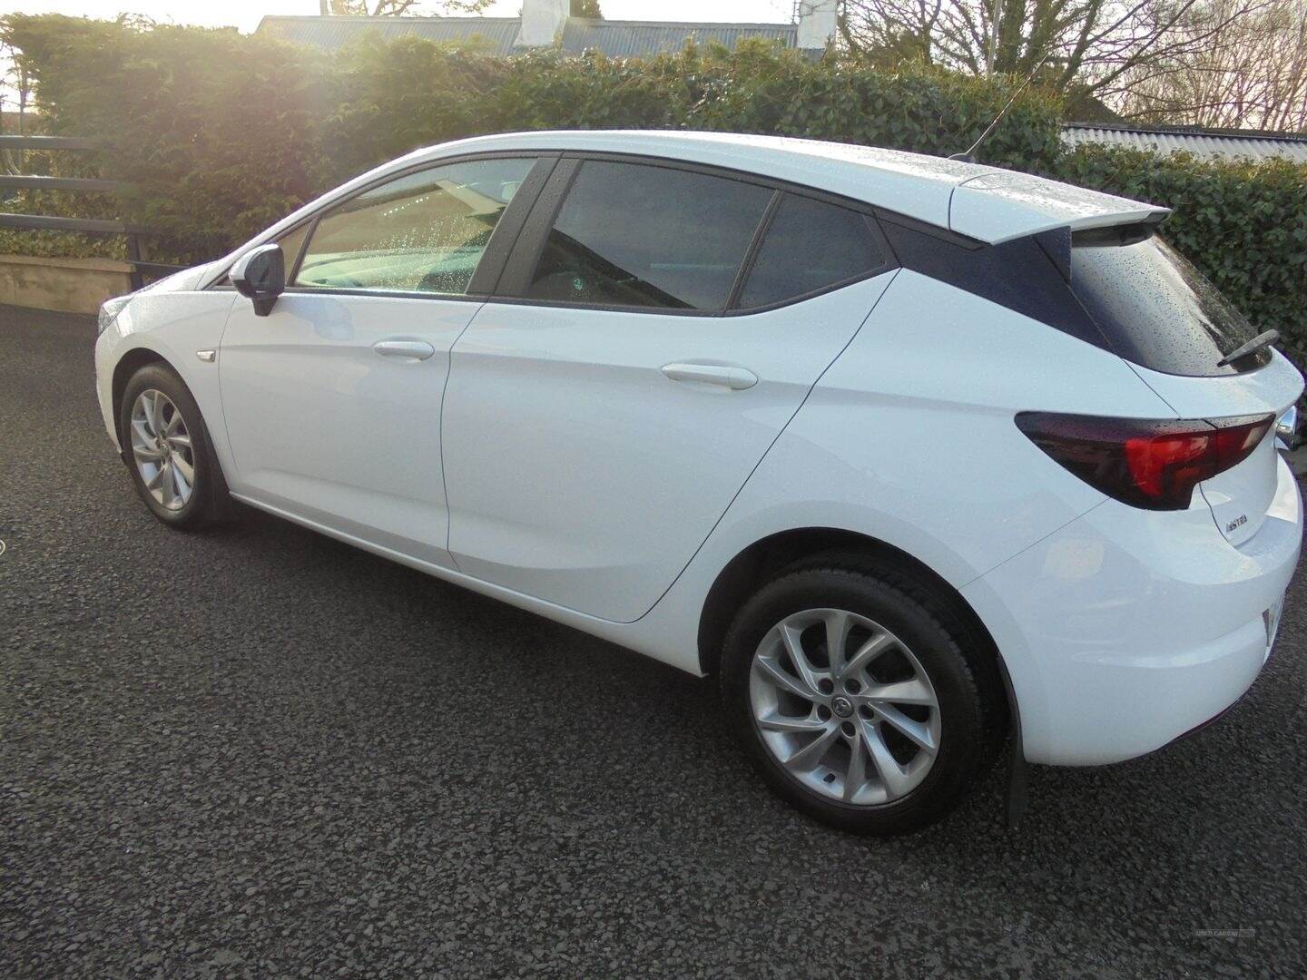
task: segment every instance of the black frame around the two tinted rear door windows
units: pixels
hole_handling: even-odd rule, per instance
[[[725,180],[737,180],[740,183],[754,184],[758,187],[765,187],[771,189],[774,193],[767,206],[763,209],[762,216],[758,220],[758,226],[754,229],[753,238],[749,242],[749,247],[745,251],[744,259],[740,263],[740,269],[736,273],[735,284],[732,285],[731,293],[727,297],[727,306],[721,310],[682,310],[676,307],[657,307],[657,306],[627,306],[621,303],[584,303],[584,302],[566,302],[559,299],[531,299],[524,295],[515,295],[516,293],[523,293],[529,286],[531,277],[535,274],[536,265],[540,263],[540,256],[544,253],[545,246],[548,243],[549,233],[553,230],[554,221],[558,217],[558,212],[562,210],[563,203],[567,200],[567,195],[571,191],[572,182],[576,174],[580,171],[582,163],[588,159],[593,161],[608,161],[617,163],[631,163],[637,166],[656,166],[665,167],[668,170],[680,170],[691,174],[703,174],[706,176],[715,176]],[[864,217],[867,221],[867,227],[872,233],[881,252],[885,255],[885,261],[868,272],[853,276],[839,282],[833,282],[821,289],[812,290],[795,297],[787,297],[786,299],[766,303],[762,306],[753,307],[735,307],[733,303],[737,302],[738,294],[744,287],[745,281],[749,278],[749,273],[753,272],[753,265],[758,257],[762,242],[766,238],[767,230],[771,227],[771,220],[776,213],[780,200],[783,200],[786,193],[792,193],[799,197],[809,197],[813,200],[822,201],[825,204],[831,204],[838,208],[844,208],[846,210],[852,210]],[[559,162],[555,167],[549,184],[541,191],[536,204],[531,212],[529,218],[527,218],[521,234],[518,238],[518,244],[508,256],[508,261],[499,276],[499,281],[495,285],[495,290],[486,297],[488,303],[508,303],[514,306],[540,306],[540,307],[553,307],[559,310],[596,310],[608,312],[622,312],[622,314],[646,314],[656,316],[708,316],[708,318],[735,318],[735,316],[752,316],[754,314],[770,312],[772,310],[779,310],[782,307],[793,306],[795,303],[802,303],[816,297],[825,295],[826,293],[834,293],[836,289],[844,289],[852,286],[856,282],[863,282],[865,280],[876,278],[886,272],[897,269],[901,267],[898,256],[894,253],[894,248],[890,246],[885,231],[880,226],[878,214],[884,209],[877,208],[867,201],[855,201],[848,197],[842,197],[840,195],[831,193],[829,191],[822,191],[816,187],[805,187],[802,184],[793,184],[786,180],[778,180],[775,178],[769,178],[761,174],[753,174],[744,170],[732,170],[728,167],[718,167],[707,163],[695,163],[693,161],[674,159],[669,157],[655,157],[643,155],[633,153],[606,153],[601,150],[566,150],[559,154]],[[946,229],[941,229],[948,234]],[[514,290],[514,291],[510,291]]]

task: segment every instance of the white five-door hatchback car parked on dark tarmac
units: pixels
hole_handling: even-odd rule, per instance
[[[1269,655],[1303,380],[1165,217],[865,146],[464,140],[106,303],[99,404],[165,524],[235,498],[718,674],[775,789],[897,832],[1008,732],[1128,759]]]

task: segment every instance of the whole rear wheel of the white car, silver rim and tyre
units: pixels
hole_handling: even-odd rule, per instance
[[[989,760],[1001,693],[931,589],[856,561],[783,572],[732,625],[721,690],[767,783],[843,830],[938,819]]]

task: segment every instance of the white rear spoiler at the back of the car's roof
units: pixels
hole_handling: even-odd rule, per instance
[[[993,170],[963,180],[949,199],[949,229],[991,244],[1052,229],[1157,225],[1171,210],[1031,174]]]

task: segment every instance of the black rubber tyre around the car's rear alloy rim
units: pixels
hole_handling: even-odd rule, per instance
[[[887,802],[848,804],[801,783],[767,749],[754,719],[750,674],[759,644],[787,617],[827,608],[865,617],[898,636],[938,702],[933,762],[915,788]],[[993,762],[1006,733],[1001,676],[985,643],[932,584],[856,554],[791,566],[745,602],[727,632],[720,683],[731,728],[767,784],[810,817],[855,834],[906,834],[942,818]]]

